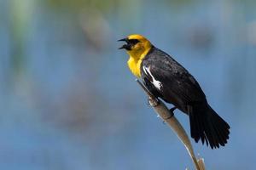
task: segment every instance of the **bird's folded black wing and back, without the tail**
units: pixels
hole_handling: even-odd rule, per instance
[[[159,93],[157,97],[172,103],[183,112],[187,113],[187,105],[206,101],[206,96],[195,78],[159,49],[155,48],[148,54],[143,60],[142,67],[145,85],[151,82],[150,88]],[[160,82],[160,88],[155,87],[154,81]]]

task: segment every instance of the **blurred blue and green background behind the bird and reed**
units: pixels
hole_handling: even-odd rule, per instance
[[[1,0],[0,169],[193,168],[147,105],[116,42],[172,54],[230,123],[227,146],[195,144],[207,169],[256,167],[253,0]],[[171,106],[170,106],[171,107]],[[189,132],[189,119],[176,111]]]

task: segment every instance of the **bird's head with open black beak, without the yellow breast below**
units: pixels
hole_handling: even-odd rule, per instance
[[[126,42],[126,44],[119,49],[126,49],[126,52],[134,59],[142,59],[142,57],[148,53],[150,48],[152,48],[151,42],[149,42],[147,38],[138,34],[132,34],[120,39],[119,41]]]

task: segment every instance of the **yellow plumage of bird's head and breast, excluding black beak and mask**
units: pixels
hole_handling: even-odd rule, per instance
[[[136,77],[141,77],[141,64],[143,59],[152,48],[152,44],[141,35],[131,35],[128,39],[137,39],[139,42],[131,47],[131,50],[127,50],[130,58],[127,62],[132,74]]]

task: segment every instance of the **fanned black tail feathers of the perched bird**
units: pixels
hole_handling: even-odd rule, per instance
[[[227,144],[230,134],[230,126],[212,110],[210,105],[188,106],[190,133],[197,143],[201,139],[202,144],[210,144],[211,148],[219,148],[219,144]]]

